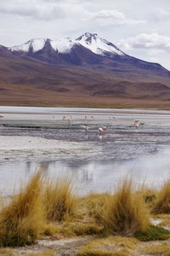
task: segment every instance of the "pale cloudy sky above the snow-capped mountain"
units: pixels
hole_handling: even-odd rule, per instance
[[[170,0],[0,0],[0,44],[98,33],[170,70]]]

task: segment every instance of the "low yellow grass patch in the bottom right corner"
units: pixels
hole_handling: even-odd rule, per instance
[[[170,247],[169,244],[154,244],[148,247],[143,247],[142,252],[144,253],[150,253],[150,254],[156,254],[156,255],[170,255]]]

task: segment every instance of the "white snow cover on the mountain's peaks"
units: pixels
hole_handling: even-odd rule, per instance
[[[48,38],[35,38],[29,40],[26,44],[10,47],[8,49],[14,52],[37,52],[49,44],[57,53],[67,54],[71,52],[71,49],[81,45],[82,47],[92,51],[97,55],[125,55],[121,49],[118,49],[116,45],[111,44],[105,39],[99,38],[97,34],[84,33],[81,37],[76,39],[60,38],[57,40],[51,40]]]

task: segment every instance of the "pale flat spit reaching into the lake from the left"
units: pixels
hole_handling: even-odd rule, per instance
[[[20,157],[53,157],[93,154],[100,148],[91,143],[64,142],[42,137],[0,136],[0,160]]]

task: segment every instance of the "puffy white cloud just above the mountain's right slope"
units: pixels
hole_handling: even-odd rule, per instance
[[[119,47],[122,47],[122,49],[139,48],[167,51],[170,49],[170,37],[160,35],[156,32],[141,33],[134,38],[120,40]]]

